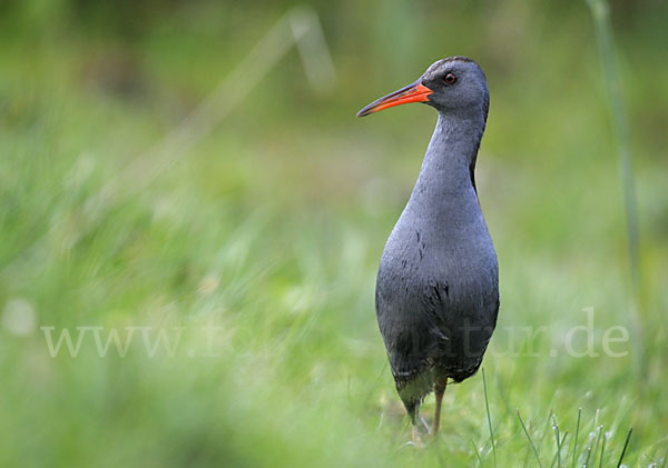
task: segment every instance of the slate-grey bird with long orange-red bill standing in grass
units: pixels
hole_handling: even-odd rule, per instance
[[[424,398],[434,392],[435,437],[448,382],[482,362],[499,313],[499,265],[474,177],[490,104],[484,72],[466,57],[439,60],[357,117],[409,102],[434,108],[438,121],[381,257],[375,309],[412,442],[422,446]]]

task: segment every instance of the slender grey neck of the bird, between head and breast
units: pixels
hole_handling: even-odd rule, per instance
[[[409,205],[423,212],[478,205],[473,170],[484,132],[483,116],[448,116],[439,121],[426,149]]]

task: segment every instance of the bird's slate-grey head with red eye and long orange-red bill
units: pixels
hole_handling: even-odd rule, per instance
[[[357,117],[409,102],[424,102],[441,113],[482,112],[487,119],[489,92],[482,69],[465,57],[439,60],[412,84],[373,101]]]

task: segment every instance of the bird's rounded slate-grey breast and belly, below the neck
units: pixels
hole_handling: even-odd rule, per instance
[[[376,281],[392,371],[399,387],[433,370],[461,381],[480,366],[497,322],[494,248],[481,213],[434,222],[410,208],[387,240]]]

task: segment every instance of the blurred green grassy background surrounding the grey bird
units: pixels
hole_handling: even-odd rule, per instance
[[[292,48],[190,150],[151,152],[293,3],[0,1],[0,465],[538,466],[519,408],[542,466],[560,464],[554,421],[563,466],[573,451],[584,462],[599,427],[601,466],[616,466],[631,426],[625,464],[662,466],[667,3],[610,6],[640,220],[636,301],[584,1],[311,6],[333,88],[311,87]],[[355,112],[453,54],[482,66],[491,93],[478,185],[501,276],[483,364],[495,454],[480,372],[449,388],[438,444],[404,445],[373,305],[435,113]],[[236,102],[246,84],[242,73],[224,94]],[[589,307],[598,356],[574,357],[564,343]],[[49,332],[76,341],[85,326],[104,340],[150,328],[126,354],[100,356],[91,329],[76,357],[66,345],[51,356]],[[630,332],[611,346],[625,357],[601,348],[613,326]],[[527,327],[547,329],[512,332]],[[141,338],[160,332],[178,346],[151,356]]]

